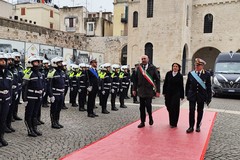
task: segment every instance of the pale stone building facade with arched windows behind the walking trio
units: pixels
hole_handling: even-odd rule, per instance
[[[147,54],[163,76],[173,62],[186,74],[195,57],[212,69],[220,52],[240,48],[240,0],[128,0],[128,9],[130,65]]]

